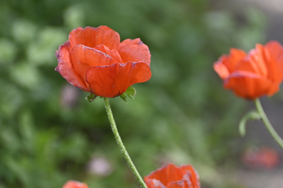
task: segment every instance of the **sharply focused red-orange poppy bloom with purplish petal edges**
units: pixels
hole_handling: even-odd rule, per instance
[[[97,96],[120,96],[151,77],[148,46],[139,38],[120,42],[120,35],[107,26],[74,29],[55,55],[56,71],[73,86]]]

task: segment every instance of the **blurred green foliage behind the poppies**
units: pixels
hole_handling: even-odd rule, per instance
[[[134,85],[128,104],[110,99],[121,137],[142,176],[167,162],[193,164],[202,187],[230,185],[219,167],[235,167],[237,124],[245,102],[224,91],[212,63],[230,47],[263,43],[265,16],[213,10],[208,0],[1,0],[0,188],[138,187],[115,139],[103,100],[86,92],[64,105],[70,85],[54,55],[76,27],[106,25],[121,40],[141,38],[152,78]],[[113,172],[93,175],[95,156]]]

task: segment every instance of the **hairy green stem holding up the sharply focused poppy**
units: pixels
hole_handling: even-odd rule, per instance
[[[120,147],[121,152],[123,153],[124,158],[126,159],[131,171],[134,173],[134,176],[138,180],[140,186],[142,188],[147,188],[147,186],[144,183],[143,178],[139,175],[137,168],[134,166],[134,163],[133,163],[131,157],[129,156],[129,153],[127,152],[127,150],[126,150],[126,148],[125,148],[125,146],[122,142],[122,139],[120,137],[120,134],[118,132],[118,129],[117,129],[117,126],[116,126],[116,123],[115,123],[115,120],[114,120],[114,117],[113,117],[113,114],[112,114],[112,110],[111,110],[111,107],[110,107],[110,104],[109,104],[109,100],[108,100],[108,98],[105,98],[105,97],[104,97],[104,106],[105,106],[105,109],[106,109],[106,112],[107,112],[107,116],[108,116],[108,119],[109,119],[109,122],[110,122],[110,125],[111,125],[112,132],[113,132],[115,139],[116,139],[116,141],[117,141],[117,143]]]

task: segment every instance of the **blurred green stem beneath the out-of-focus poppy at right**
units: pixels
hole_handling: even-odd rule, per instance
[[[272,127],[271,123],[269,122],[262,106],[261,106],[261,101],[256,98],[255,100],[256,103],[256,109],[258,110],[259,114],[261,115],[262,121],[264,122],[266,128],[268,129],[268,131],[270,132],[270,134],[272,135],[272,137],[276,140],[276,142],[281,146],[281,148],[283,149],[283,140],[281,139],[281,137],[276,133],[276,131],[274,130],[274,128]]]

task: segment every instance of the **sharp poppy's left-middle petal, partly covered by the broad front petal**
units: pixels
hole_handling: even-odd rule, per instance
[[[74,70],[84,82],[87,89],[89,89],[89,84],[85,80],[87,69],[92,66],[104,66],[116,63],[115,59],[109,55],[84,45],[74,46],[71,51],[71,60]]]

